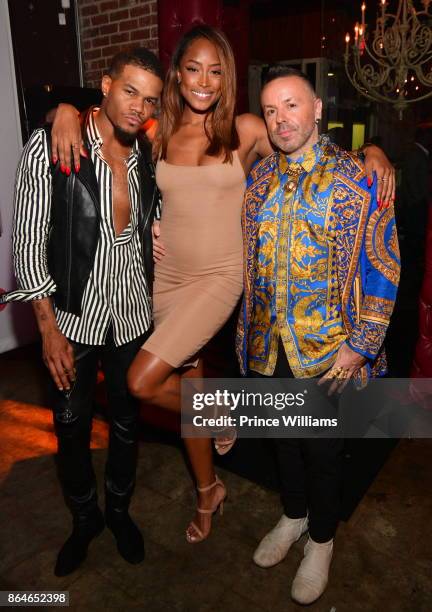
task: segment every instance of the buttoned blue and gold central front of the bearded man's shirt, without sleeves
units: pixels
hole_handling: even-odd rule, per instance
[[[296,161],[278,155],[259,211],[249,369],[274,372],[279,337],[294,374],[325,371],[347,338],[341,317],[336,223],[336,158],[323,138]],[[301,374],[300,374],[301,372]]]

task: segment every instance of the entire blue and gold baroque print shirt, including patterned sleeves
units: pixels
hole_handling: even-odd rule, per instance
[[[296,377],[321,374],[344,341],[367,360],[356,384],[385,374],[399,246],[394,208],[378,207],[359,156],[326,136],[296,162],[269,155],[250,173],[242,228],[242,374],[270,375],[279,337]]]

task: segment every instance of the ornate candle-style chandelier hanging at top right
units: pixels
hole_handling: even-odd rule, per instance
[[[375,102],[389,102],[402,118],[409,104],[432,96],[432,0],[398,0],[395,13],[381,0],[375,30],[368,32],[366,4],[354,41],[345,37],[345,71],[352,85]]]

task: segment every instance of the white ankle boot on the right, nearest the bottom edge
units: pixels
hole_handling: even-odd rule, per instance
[[[291,597],[300,604],[313,603],[327,586],[330,563],[333,554],[333,540],[318,544],[308,538],[304,558],[297,570],[291,588]]]

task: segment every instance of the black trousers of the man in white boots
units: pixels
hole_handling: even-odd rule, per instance
[[[251,376],[262,375],[251,372]],[[294,377],[281,343],[273,377]],[[284,514],[289,518],[308,514],[312,540],[328,542],[341,512],[343,440],[277,438],[274,443]]]

